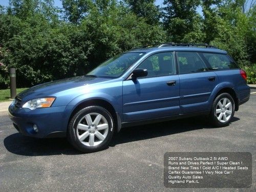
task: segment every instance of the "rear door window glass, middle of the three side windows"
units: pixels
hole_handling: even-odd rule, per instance
[[[200,71],[206,71],[207,67],[195,52],[177,52],[179,73],[195,73]]]

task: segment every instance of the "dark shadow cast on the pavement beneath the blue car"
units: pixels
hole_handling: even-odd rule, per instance
[[[239,120],[233,117],[232,122]],[[157,127],[157,131],[156,131]],[[161,123],[147,124],[141,126],[127,127],[115,134],[110,146],[131,141],[139,141],[162,137],[166,135],[178,134],[198,129],[216,128],[208,123],[207,118],[194,117],[179,119]],[[216,128],[218,129],[218,128]],[[136,133],[136,134],[135,134]],[[49,156],[49,155],[79,155],[81,152],[75,150],[66,138],[37,139],[21,135],[12,134],[4,139],[6,149],[17,155],[23,156]]]

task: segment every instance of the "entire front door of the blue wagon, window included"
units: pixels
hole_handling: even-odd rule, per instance
[[[173,52],[148,56],[137,69],[146,77],[123,81],[123,119],[136,121],[179,114],[180,80]]]

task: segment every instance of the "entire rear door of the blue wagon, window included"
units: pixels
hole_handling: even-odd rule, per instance
[[[215,72],[208,71],[196,52],[176,52],[180,78],[180,112],[182,114],[210,109],[208,102],[218,84]]]

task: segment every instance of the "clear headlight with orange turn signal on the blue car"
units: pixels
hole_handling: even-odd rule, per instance
[[[54,100],[55,100],[55,97],[32,99],[26,102],[22,106],[22,108],[28,108],[30,110],[35,110],[36,108],[49,108],[52,105]]]

